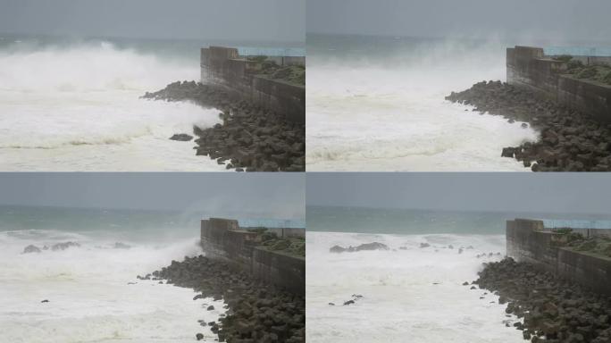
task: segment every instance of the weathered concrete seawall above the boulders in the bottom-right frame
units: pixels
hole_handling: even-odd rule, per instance
[[[606,234],[609,230],[575,230]],[[507,256],[535,265],[542,271],[611,295],[611,258],[557,247],[564,235],[546,230],[542,221],[515,219],[506,222]]]

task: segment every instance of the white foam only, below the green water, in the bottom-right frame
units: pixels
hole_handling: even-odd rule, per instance
[[[391,249],[329,252],[334,245],[372,241]],[[424,242],[431,247],[420,248]],[[459,247],[469,246],[473,249],[458,254]],[[501,258],[476,255],[504,255],[502,236],[309,231],[306,249],[308,342],[523,341],[522,332],[503,323],[515,318],[506,317],[505,305],[498,305],[497,296],[484,296],[487,291],[462,285],[477,278],[482,262]],[[355,305],[342,305],[353,294],[363,297]]]

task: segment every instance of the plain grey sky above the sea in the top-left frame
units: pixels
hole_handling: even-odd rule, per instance
[[[0,32],[304,42],[306,0],[0,0]]]

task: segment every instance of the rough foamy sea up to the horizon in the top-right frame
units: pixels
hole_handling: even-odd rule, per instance
[[[308,171],[524,171],[537,132],[444,100],[506,79],[506,44],[308,35]],[[465,111],[466,110],[466,111]]]

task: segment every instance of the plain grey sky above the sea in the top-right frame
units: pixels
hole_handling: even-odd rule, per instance
[[[307,32],[605,40],[608,0],[307,0]]]

